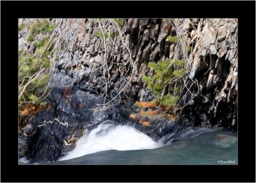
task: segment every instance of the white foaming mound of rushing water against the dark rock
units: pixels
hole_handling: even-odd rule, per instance
[[[59,161],[92,154],[103,150],[140,150],[158,148],[163,145],[156,143],[146,134],[135,131],[130,126],[113,126],[102,123],[82,136],[76,147]]]

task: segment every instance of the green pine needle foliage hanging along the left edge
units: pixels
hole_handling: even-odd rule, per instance
[[[47,89],[49,82],[49,72],[47,70],[51,67],[51,60],[49,54],[54,46],[53,40],[49,40],[49,33],[52,33],[56,24],[51,23],[47,19],[40,19],[27,26],[24,23],[19,25],[19,29],[24,27],[29,29],[26,40],[32,42],[35,47],[34,54],[27,54],[26,50],[19,51],[19,94],[20,90],[26,83],[28,83],[33,76],[44,68],[45,72],[41,72],[36,79],[33,79],[26,87],[26,90],[19,97],[19,102],[33,102],[36,105],[43,104],[41,100],[43,92]],[[40,40],[35,40],[37,35],[42,35]],[[48,90],[49,91],[49,88]],[[47,91],[45,93],[47,93]]]

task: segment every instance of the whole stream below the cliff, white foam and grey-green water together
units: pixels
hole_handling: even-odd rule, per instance
[[[156,142],[132,127],[102,123],[47,164],[237,164],[237,133],[189,128]]]

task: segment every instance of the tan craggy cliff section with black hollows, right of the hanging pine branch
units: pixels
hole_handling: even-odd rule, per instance
[[[200,95],[184,108],[184,118],[195,125],[237,129],[237,20],[178,21],[185,42],[192,44],[189,78],[196,79],[200,88]],[[192,87],[197,91],[198,86]],[[188,100],[192,96],[189,94]]]

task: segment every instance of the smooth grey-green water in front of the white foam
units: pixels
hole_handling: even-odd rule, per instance
[[[237,133],[205,132],[150,150],[106,150],[46,164],[237,164]]]

